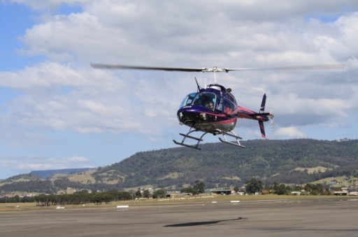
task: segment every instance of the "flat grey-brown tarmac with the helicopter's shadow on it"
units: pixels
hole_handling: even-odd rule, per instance
[[[358,199],[0,213],[0,236],[358,236]]]

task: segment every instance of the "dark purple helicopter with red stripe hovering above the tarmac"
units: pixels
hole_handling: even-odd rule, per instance
[[[285,66],[275,68],[168,68],[168,67],[150,67],[150,66],[126,66],[117,64],[91,63],[93,68],[99,69],[131,69],[131,70],[164,70],[164,71],[180,71],[180,72],[214,72],[214,84],[209,84],[202,88],[199,86],[196,78],[196,92],[189,93],[180,103],[177,117],[180,125],[187,125],[189,131],[186,134],[179,133],[182,141],[175,144],[186,146],[189,148],[199,148],[203,137],[210,133],[212,135],[222,135],[219,137],[220,142],[245,148],[240,143],[243,139],[236,135],[233,131],[236,127],[238,119],[252,119],[259,123],[259,129],[262,138],[266,138],[264,122],[271,121],[273,123],[273,114],[264,112],[266,104],[266,93],[262,98],[259,112],[241,107],[237,104],[230,88],[217,84],[217,72],[229,72],[233,70],[305,70],[305,69],[341,69],[343,64],[315,65],[315,66]],[[200,136],[194,136],[194,133],[202,133]],[[229,141],[227,137],[234,138],[235,141]],[[194,140],[196,144],[187,144],[186,140]]]

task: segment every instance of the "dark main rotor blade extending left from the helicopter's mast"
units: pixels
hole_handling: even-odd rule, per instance
[[[181,72],[203,72],[207,68],[163,68],[163,67],[148,67],[148,66],[128,66],[118,64],[101,64],[91,63],[93,68],[100,69],[134,69],[134,70],[164,70],[164,71],[181,71]]]

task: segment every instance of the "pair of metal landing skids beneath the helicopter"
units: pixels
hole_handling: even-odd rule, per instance
[[[203,142],[203,136],[205,136],[208,132],[204,132],[203,135],[201,135],[201,137],[193,137],[193,136],[190,136],[189,134],[192,133],[192,132],[201,132],[201,130],[189,130],[189,132],[187,132],[187,134],[182,134],[182,133],[179,133],[179,135],[182,135],[182,142],[176,142],[176,140],[173,140],[173,142],[177,145],[180,145],[180,146],[186,146],[186,147],[189,147],[189,148],[194,148],[196,150],[201,150],[201,148],[199,148],[199,143],[200,142]],[[245,148],[245,146],[241,145],[240,144],[240,139],[242,139],[241,137],[238,137],[235,132],[222,132],[220,130],[217,130],[217,133],[216,134],[222,134],[222,136],[224,137],[224,139],[222,139],[221,137],[219,137],[220,139],[220,142],[223,142],[223,143],[226,143],[226,144],[230,144],[230,145],[234,145],[234,146],[238,146],[238,147],[241,147],[241,148]],[[236,142],[229,142],[227,141],[227,136],[229,137],[234,137],[236,139]],[[189,144],[185,144],[185,139],[193,139],[193,140],[196,140],[196,144],[194,145],[189,145]]]

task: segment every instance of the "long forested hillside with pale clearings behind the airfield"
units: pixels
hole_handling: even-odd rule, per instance
[[[108,167],[99,167],[78,181],[71,176],[38,177],[36,181],[22,183],[10,178],[11,182],[7,179],[0,183],[0,190],[19,188],[20,183],[29,189],[32,183],[38,187],[38,182],[44,182],[44,187],[52,185],[50,190],[66,187],[122,190],[143,186],[180,189],[195,181],[202,181],[206,188],[225,188],[243,185],[252,177],[268,184],[358,177],[358,140],[251,140],[242,144],[247,148],[216,143],[203,144],[201,151],[179,147],[140,152]]]

